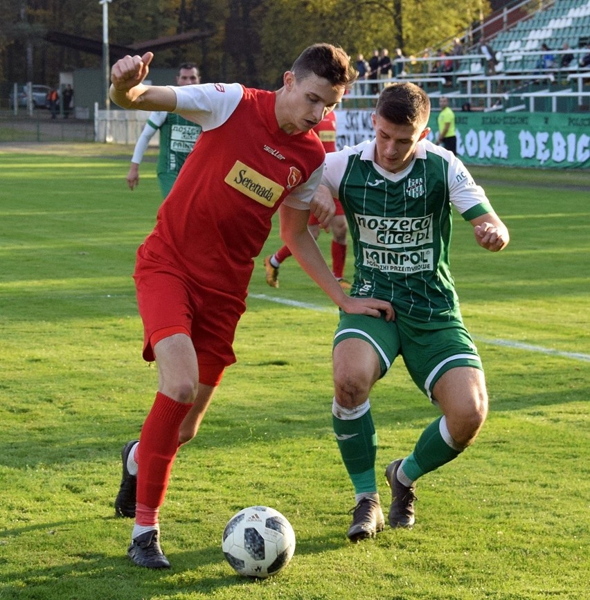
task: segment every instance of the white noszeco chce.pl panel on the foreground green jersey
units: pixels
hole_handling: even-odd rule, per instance
[[[373,217],[355,214],[359,239],[371,246],[403,248],[432,242],[432,215],[426,217]]]

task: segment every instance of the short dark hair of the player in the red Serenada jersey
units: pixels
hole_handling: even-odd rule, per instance
[[[298,56],[291,67],[298,79],[311,73],[327,79],[333,86],[350,88],[357,79],[357,71],[350,64],[350,56],[332,44],[313,44]]]

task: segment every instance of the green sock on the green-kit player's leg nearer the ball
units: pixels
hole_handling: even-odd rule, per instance
[[[332,426],[355,493],[376,492],[377,433],[370,409],[359,419],[343,420],[332,415]]]

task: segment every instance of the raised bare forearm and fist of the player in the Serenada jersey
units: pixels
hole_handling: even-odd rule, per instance
[[[124,109],[143,111],[173,111],[176,108],[176,94],[166,86],[143,84],[150,72],[153,53],[143,56],[125,56],[111,69],[111,100]]]

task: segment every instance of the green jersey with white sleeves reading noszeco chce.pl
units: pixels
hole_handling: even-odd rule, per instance
[[[389,300],[433,327],[461,318],[449,271],[451,208],[465,220],[485,215],[485,192],[452,152],[428,140],[403,172],[374,158],[375,140],[325,157],[322,183],[341,201],[352,235],[352,296]]]

